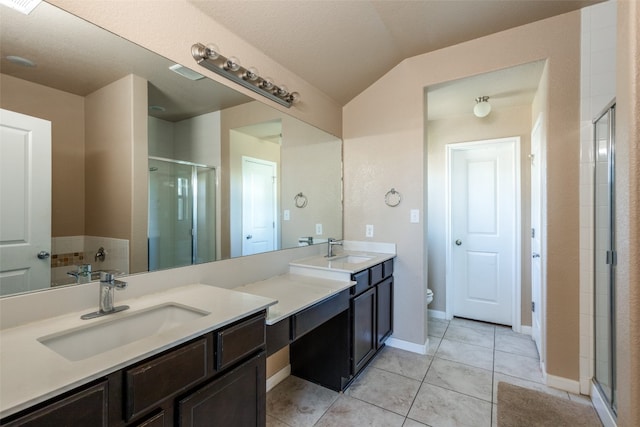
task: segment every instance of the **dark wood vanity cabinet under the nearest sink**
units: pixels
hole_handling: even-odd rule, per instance
[[[2,420],[2,426],[266,424],[266,311]]]

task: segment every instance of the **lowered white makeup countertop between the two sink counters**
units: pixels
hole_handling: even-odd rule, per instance
[[[273,325],[354,284],[355,282],[351,280],[327,280],[298,274],[283,274],[242,285],[234,290],[278,300],[277,304],[269,307],[267,313],[267,325]]]

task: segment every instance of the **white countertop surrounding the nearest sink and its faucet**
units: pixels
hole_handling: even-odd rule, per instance
[[[60,331],[88,326],[106,318],[127,316],[131,312],[167,302],[193,307],[209,314],[166,332],[78,361],[67,360],[38,341],[39,338]],[[130,309],[97,319],[80,320],[80,316],[85,312],[77,312],[2,330],[0,418],[219,329],[264,310],[276,302],[273,298],[194,284],[118,301],[118,305],[127,304]]]

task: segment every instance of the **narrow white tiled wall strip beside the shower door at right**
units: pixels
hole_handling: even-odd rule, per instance
[[[616,93],[616,13],[610,0],[582,9],[580,88],[580,391],[593,376],[593,173],[592,120]]]

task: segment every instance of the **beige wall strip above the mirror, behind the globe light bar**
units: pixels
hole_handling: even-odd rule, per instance
[[[311,86],[303,77],[293,74],[223,25],[204,15],[188,0],[50,0],[49,3],[172,61],[195,69],[212,80],[232,87],[273,108],[340,136],[342,112],[339,104]],[[191,56],[191,46],[197,42],[216,43],[223,54],[237,56],[243,64],[258,67],[263,75],[272,76],[291,90],[299,92],[302,96],[300,103],[288,109],[212,71],[197,66]]]

